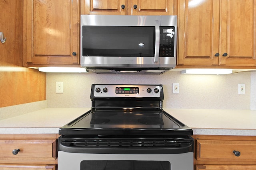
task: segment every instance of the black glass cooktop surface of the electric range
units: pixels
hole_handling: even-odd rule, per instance
[[[60,135],[192,135],[192,129],[159,110],[88,111],[59,130]]]

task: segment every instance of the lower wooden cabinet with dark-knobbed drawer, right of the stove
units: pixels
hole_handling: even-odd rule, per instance
[[[256,170],[256,136],[193,137],[195,170]]]

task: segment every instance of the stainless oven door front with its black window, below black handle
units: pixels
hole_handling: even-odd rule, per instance
[[[58,152],[59,170],[193,170],[193,152],[92,154]]]

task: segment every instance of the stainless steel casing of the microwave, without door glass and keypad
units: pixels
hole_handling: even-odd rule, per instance
[[[177,37],[174,36],[174,57],[159,57],[160,27],[174,26],[177,31],[177,16],[103,16],[81,15],[82,27],[88,26],[152,26],[155,27],[154,57],[111,57],[111,56],[83,56],[81,37],[81,66],[99,74],[161,74],[176,67]],[[153,40],[152,40],[153,41]],[[141,71],[142,70],[142,71]],[[146,71],[158,70],[158,71]],[[159,71],[163,70],[163,71]]]

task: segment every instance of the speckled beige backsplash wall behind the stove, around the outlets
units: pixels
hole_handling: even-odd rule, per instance
[[[64,93],[56,94],[56,82],[64,82]],[[256,82],[256,80],[255,80]],[[160,75],[111,75],[47,73],[48,107],[91,107],[91,84],[163,84],[164,108],[250,109],[251,73],[227,75],[185,75],[169,71]],[[172,93],[172,83],[180,83],[180,93]],[[245,84],[246,94],[238,94]]]

